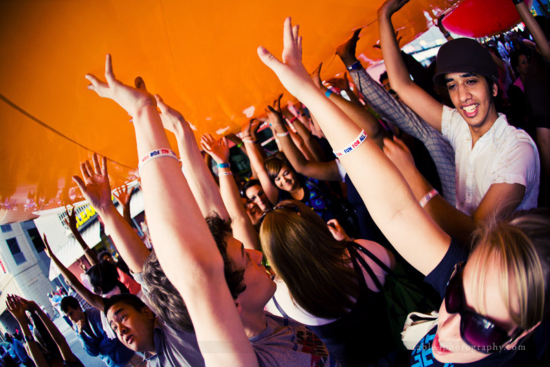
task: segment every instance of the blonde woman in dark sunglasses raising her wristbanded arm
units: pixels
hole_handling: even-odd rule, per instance
[[[391,0],[384,5],[399,9],[404,3]],[[293,28],[289,18],[283,41],[283,62],[259,47],[261,60],[319,117],[375,223],[444,298],[439,324],[419,342],[411,364],[503,365],[525,357],[520,344],[535,333],[550,305],[548,214],[529,212],[487,223],[478,230],[471,252],[452,241],[424,212],[384,153],[311,81],[301,63],[298,27]],[[428,196],[422,204],[430,205]]]

